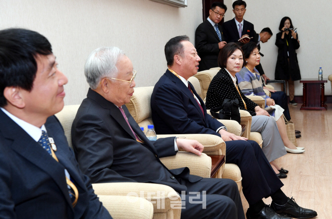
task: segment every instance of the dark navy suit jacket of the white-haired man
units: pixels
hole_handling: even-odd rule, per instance
[[[82,171],[93,183],[148,182],[165,184],[181,193],[186,187],[176,179],[196,182],[189,168],[169,170],[159,158],[174,156],[174,138],[149,141],[125,105],[128,122],[145,143],[139,143],[121,111],[97,92],[89,89],[72,125],[72,143]]]

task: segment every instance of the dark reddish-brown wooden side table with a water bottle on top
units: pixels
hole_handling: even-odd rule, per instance
[[[314,78],[300,80],[300,83],[303,83],[303,104],[300,110],[328,109],[324,101],[324,83],[327,82],[327,79]]]

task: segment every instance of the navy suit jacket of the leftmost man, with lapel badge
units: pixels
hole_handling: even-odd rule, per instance
[[[2,110],[0,120],[1,219],[111,219],[80,171],[55,116],[45,127],[54,138],[59,163]],[[74,208],[64,169],[78,189]]]

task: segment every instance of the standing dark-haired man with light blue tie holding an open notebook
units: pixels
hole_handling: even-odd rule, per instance
[[[254,25],[243,19],[246,12],[246,2],[243,0],[236,0],[233,2],[232,6],[235,18],[222,24],[225,41],[227,43],[238,42],[238,40],[244,36],[249,38],[254,37]],[[248,38],[240,40],[241,43],[248,43],[249,41]]]

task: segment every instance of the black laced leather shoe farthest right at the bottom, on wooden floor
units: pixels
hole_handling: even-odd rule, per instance
[[[314,218],[317,216],[317,212],[310,209],[305,209],[298,206],[295,200],[292,198],[287,199],[287,203],[284,205],[277,205],[276,203],[271,203],[271,208],[280,215],[289,216],[292,218],[306,219]]]

